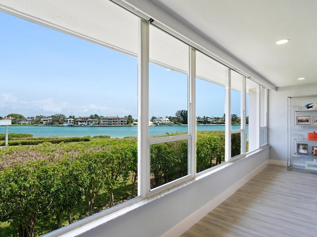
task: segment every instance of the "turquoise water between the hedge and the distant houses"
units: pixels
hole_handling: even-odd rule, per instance
[[[232,125],[232,129],[240,129],[240,125]],[[247,127],[248,129],[248,127]],[[197,125],[197,131],[224,130],[224,125]],[[187,125],[159,125],[149,127],[150,136],[174,132],[187,132]],[[5,127],[0,126],[0,133]],[[8,126],[8,133],[29,133],[34,137],[84,137],[107,135],[111,138],[136,137],[137,126]],[[247,130],[248,134],[248,130]]]

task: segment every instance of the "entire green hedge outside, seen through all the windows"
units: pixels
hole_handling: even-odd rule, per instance
[[[239,135],[232,136],[233,154],[240,152]],[[197,172],[224,161],[224,141],[224,131],[197,132]],[[129,197],[121,194],[120,198],[134,197],[137,138],[70,137],[9,141],[9,145],[36,145],[0,149],[0,222],[9,221],[12,227],[34,232],[35,223],[58,223],[62,213],[71,216],[83,201],[89,210],[80,215],[91,215],[97,201],[104,203],[101,209],[113,206],[113,190],[123,189],[128,180],[132,183]],[[153,144],[150,156],[152,188],[187,175],[187,140]],[[101,194],[106,196],[100,198]],[[60,225],[59,221],[56,226]],[[39,234],[51,230],[41,229]]]

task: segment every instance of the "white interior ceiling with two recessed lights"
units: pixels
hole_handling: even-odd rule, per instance
[[[317,82],[317,0],[152,2],[277,87]]]

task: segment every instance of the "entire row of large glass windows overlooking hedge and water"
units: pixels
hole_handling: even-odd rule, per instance
[[[111,1],[95,8],[52,23],[80,39],[0,13],[0,119],[14,125],[0,236],[45,234],[267,142],[266,88]]]

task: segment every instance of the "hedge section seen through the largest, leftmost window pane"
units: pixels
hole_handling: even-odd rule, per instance
[[[78,138],[60,140],[77,141]],[[101,194],[109,198],[109,206],[114,205],[114,189],[125,187],[131,176],[136,177],[137,140],[104,139],[68,144],[45,141],[36,146],[8,146],[0,149],[0,164],[0,222],[9,222],[14,230],[5,236],[16,236],[18,231],[33,236],[36,223],[56,220],[56,227],[60,227],[63,213],[70,217],[80,210],[79,216],[83,218],[87,215],[84,207],[89,206],[92,215],[96,211],[96,197]],[[134,197],[133,190],[135,187],[125,197],[120,192],[120,201]],[[77,206],[83,201],[87,204]],[[102,198],[101,201],[105,203]],[[1,228],[2,224],[0,236]],[[39,231],[36,236],[52,229],[40,227]]]

